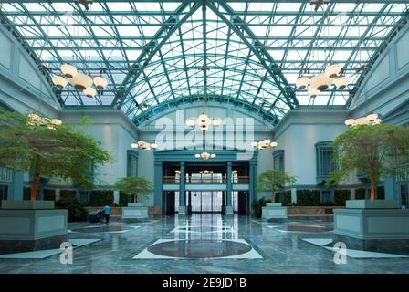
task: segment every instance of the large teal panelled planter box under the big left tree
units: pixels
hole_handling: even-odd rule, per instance
[[[68,241],[68,210],[0,209],[0,252],[59,248]]]

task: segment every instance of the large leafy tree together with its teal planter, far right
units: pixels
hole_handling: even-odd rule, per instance
[[[345,209],[334,210],[335,240],[370,250],[380,240],[398,240],[399,246],[407,246],[409,210],[398,209],[393,200],[376,200],[375,187],[381,177],[399,174],[409,159],[409,129],[387,124],[353,126],[336,138],[334,148],[338,163],[331,175],[334,183],[356,172],[371,182],[370,200],[349,200]]]

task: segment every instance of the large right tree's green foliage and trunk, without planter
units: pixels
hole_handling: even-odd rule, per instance
[[[397,175],[399,166],[408,162],[409,129],[388,124],[352,126],[333,146],[337,170],[327,185],[340,183],[351,172],[361,172],[371,182],[373,201],[379,178]]]

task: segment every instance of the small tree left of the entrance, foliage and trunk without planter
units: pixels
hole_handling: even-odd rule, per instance
[[[136,203],[138,195],[150,195],[153,191],[151,181],[139,176],[123,177],[115,184],[115,189],[131,196],[132,203]]]

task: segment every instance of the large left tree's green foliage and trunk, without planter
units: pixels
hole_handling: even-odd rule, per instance
[[[0,111],[0,166],[33,174],[31,201],[41,177],[72,179],[93,186],[93,165],[109,162],[110,153],[95,138],[35,113]]]

